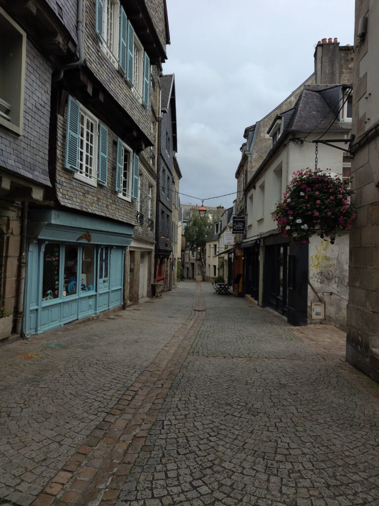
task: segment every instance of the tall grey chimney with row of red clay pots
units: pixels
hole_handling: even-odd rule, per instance
[[[322,38],[314,52],[316,85],[337,85],[340,82],[340,43],[334,39]]]

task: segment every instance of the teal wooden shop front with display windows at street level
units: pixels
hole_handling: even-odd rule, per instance
[[[24,312],[26,335],[121,306],[132,226],[31,210]]]

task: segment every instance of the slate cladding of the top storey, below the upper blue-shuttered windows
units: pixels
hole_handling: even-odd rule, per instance
[[[100,40],[96,34],[96,3],[93,1],[90,2],[87,0],[85,3],[84,30],[86,65],[120,106],[128,112],[151,143],[154,144],[155,137],[151,128],[151,99],[153,98],[150,91],[151,86],[149,87],[149,107],[146,109],[146,107],[139,103],[125,78],[118,72],[116,67],[101,49]]]

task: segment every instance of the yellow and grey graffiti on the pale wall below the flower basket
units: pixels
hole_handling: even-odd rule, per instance
[[[334,291],[345,290],[348,286],[347,265],[340,260],[338,250],[329,254],[329,241],[320,240],[316,252],[311,255],[309,274],[313,281],[334,288]]]

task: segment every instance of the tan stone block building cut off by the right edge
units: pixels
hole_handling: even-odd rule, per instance
[[[357,219],[350,233],[346,360],[379,382],[379,5],[355,2],[351,151]]]

